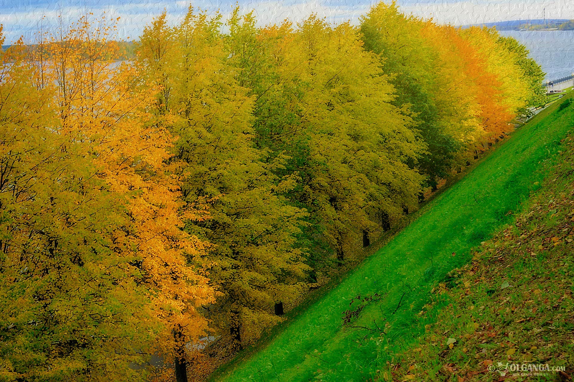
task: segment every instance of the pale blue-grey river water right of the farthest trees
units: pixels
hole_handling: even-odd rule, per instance
[[[546,72],[546,80],[557,80],[574,72],[574,30],[501,30],[498,33],[514,37],[525,45],[530,57]]]

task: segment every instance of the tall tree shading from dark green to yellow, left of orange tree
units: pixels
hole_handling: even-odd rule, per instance
[[[468,99],[474,94],[463,96],[459,91],[465,79],[457,72],[456,50],[449,49],[448,39],[432,40],[424,34],[437,28],[400,13],[395,2],[378,3],[360,23],[365,48],[381,56],[383,70],[392,76],[398,94],[393,103],[408,105],[426,143],[418,168],[433,188],[437,178],[446,175],[454,153],[478,128]],[[449,61],[447,54],[455,61]]]

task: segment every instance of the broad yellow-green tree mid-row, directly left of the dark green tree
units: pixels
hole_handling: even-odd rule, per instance
[[[238,80],[255,95],[255,142],[279,176],[296,175],[286,195],[311,212],[318,233],[344,260],[349,238],[377,227],[375,215],[416,205],[422,147],[410,118],[393,105],[393,86],[355,29],[312,16],[262,29],[251,14],[228,38]],[[246,74],[247,73],[247,74]],[[373,114],[373,110],[377,113]]]

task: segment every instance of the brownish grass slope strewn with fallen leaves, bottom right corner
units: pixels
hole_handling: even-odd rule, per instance
[[[572,380],[574,134],[524,207],[436,286],[421,314],[436,322],[381,381]]]

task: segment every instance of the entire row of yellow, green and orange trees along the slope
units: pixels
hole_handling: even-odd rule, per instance
[[[122,63],[114,35],[88,15],[2,52],[0,380],[145,379],[152,354],[186,380],[201,338],[257,340],[544,94],[512,38],[394,3],[190,8]]]

